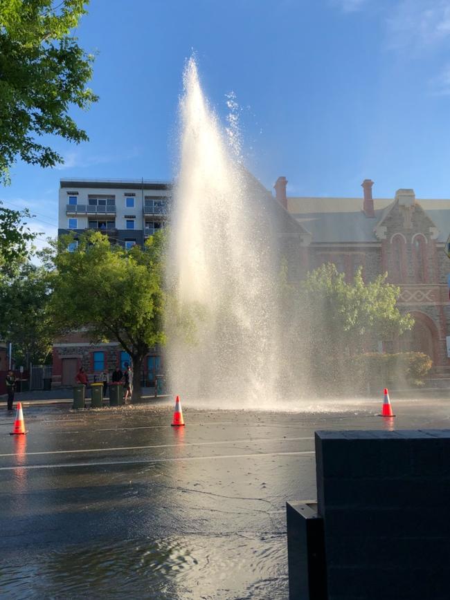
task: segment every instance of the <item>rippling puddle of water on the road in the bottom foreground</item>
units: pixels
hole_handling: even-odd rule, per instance
[[[282,600],[288,595],[284,534],[125,540],[88,549],[35,551],[8,562],[0,568],[0,594],[8,599],[126,594],[164,600]]]

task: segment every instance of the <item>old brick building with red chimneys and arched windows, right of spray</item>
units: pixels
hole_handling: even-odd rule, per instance
[[[435,373],[450,372],[450,261],[444,252],[450,200],[418,199],[413,189],[399,189],[394,198],[373,198],[372,185],[363,181],[360,198],[298,198],[287,196],[287,180],[278,178],[278,202],[307,232],[303,261],[291,276],[296,279],[328,262],[349,281],[360,266],[366,281],[388,272],[388,281],[402,290],[399,308],[415,317],[415,326],[385,349],[426,353]]]

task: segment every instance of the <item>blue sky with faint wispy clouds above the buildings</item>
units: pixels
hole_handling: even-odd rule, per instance
[[[90,141],[53,140],[59,169],[18,163],[0,189],[54,234],[60,177],[172,178],[183,65],[195,51],[225,122],[239,103],[244,160],[292,196],[413,187],[450,197],[450,0],[91,0],[77,33],[100,101],[74,113]]]

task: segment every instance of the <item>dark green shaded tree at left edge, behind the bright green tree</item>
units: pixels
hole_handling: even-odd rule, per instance
[[[30,262],[0,282],[0,338],[12,342],[16,364],[42,364],[51,352],[50,281]]]

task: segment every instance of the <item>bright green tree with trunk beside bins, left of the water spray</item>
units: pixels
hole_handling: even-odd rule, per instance
[[[165,343],[163,233],[128,252],[100,232],[86,232],[74,252],[64,236],[54,256],[53,320],[61,332],[85,328],[92,343],[118,341],[132,358],[133,399],[150,348]]]

